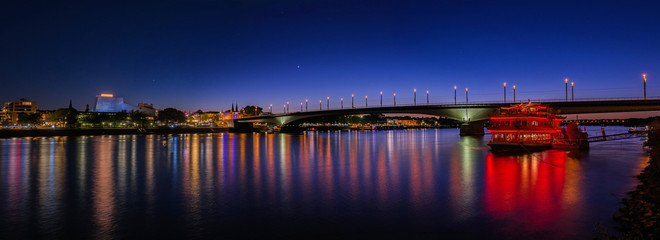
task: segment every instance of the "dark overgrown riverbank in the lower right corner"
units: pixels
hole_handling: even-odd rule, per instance
[[[656,128],[657,129],[657,128]],[[658,239],[660,237],[660,130],[649,133],[649,164],[637,176],[640,184],[614,215],[622,239]]]

